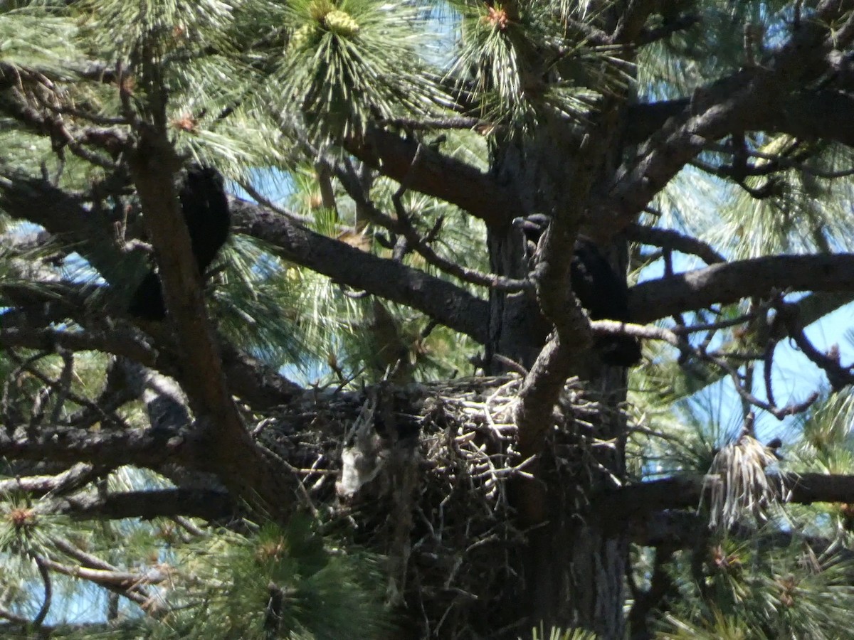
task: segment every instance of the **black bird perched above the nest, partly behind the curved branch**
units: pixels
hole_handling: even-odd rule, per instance
[[[526,257],[533,255],[549,222],[548,216],[542,214],[513,220],[513,225],[524,231]],[[570,278],[572,293],[587,309],[591,320],[631,322],[629,289],[594,242],[586,238],[576,240]],[[631,367],[640,361],[640,341],[631,335],[600,335],[594,342],[594,350],[603,363],[611,366]]]

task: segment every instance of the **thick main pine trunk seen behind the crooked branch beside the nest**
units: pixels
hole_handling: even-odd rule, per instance
[[[573,157],[571,150],[577,148],[577,141],[551,132],[527,148],[511,143],[496,150],[495,172],[506,182],[521,185],[520,200],[527,211],[518,215],[583,210],[577,202],[561,201],[567,197],[564,192],[571,191],[561,185],[585,161]],[[524,277],[529,264],[522,232],[509,228],[490,229],[488,233],[494,272]],[[488,363],[499,354],[528,369],[550,329],[535,295],[494,290],[490,318]],[[593,353],[589,356],[595,358]],[[493,370],[500,369],[500,365],[491,364]],[[585,383],[587,393],[603,406],[598,423],[593,430],[582,432],[568,419],[565,428],[549,440],[537,463],[536,480],[518,480],[510,492],[528,544],[518,556],[522,592],[508,595],[505,608],[516,612],[515,619],[525,619],[526,624],[513,627],[508,637],[518,637],[521,630],[541,623],[547,631],[551,625],[579,626],[603,639],[624,635],[623,576],[628,538],[623,532],[602,526],[589,496],[613,486],[614,478],[623,477],[625,424],[615,409],[625,399],[626,372],[597,364],[584,369],[599,372]],[[594,446],[594,440],[612,445]],[[543,509],[533,520],[530,514],[536,509],[529,508],[531,493],[520,486],[526,482],[541,483],[544,497]]]

